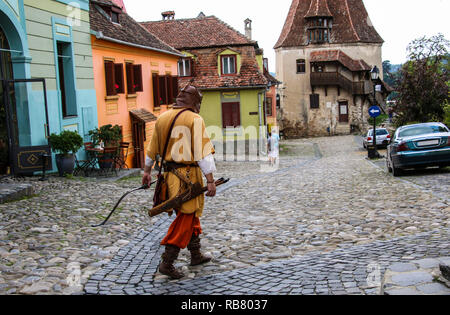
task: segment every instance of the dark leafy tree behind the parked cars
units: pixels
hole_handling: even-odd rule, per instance
[[[409,60],[395,82],[396,125],[444,120],[448,102],[450,42],[442,34],[408,45]]]

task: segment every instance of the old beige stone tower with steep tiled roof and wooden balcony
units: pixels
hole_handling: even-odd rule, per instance
[[[275,45],[284,134],[365,129],[373,104],[370,70],[383,68],[382,45],[362,0],[293,0]]]

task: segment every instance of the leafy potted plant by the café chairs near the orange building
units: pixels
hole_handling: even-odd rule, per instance
[[[103,144],[105,148],[117,148],[119,150],[120,141],[122,141],[120,126],[105,125],[89,131],[89,135],[94,146],[98,147]],[[113,164],[112,154],[102,154],[98,164],[101,169],[111,168]]]

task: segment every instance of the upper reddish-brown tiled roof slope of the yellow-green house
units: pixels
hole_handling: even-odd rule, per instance
[[[142,22],[149,32],[176,49],[257,45],[215,16]]]

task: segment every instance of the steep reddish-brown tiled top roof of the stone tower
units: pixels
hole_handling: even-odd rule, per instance
[[[307,18],[329,16],[328,11],[333,18],[330,43],[383,43],[362,0],[293,0],[275,49],[308,45]]]

